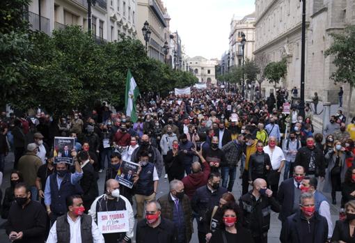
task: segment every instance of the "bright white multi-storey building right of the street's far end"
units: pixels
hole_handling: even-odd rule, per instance
[[[255,13],[246,15],[242,19],[233,16],[230,22],[229,54],[230,67],[242,65],[243,49],[241,45],[242,33],[245,34],[244,58],[253,59],[255,51]]]

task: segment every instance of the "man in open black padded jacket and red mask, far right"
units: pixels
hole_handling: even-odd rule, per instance
[[[320,176],[324,180],[324,155],[322,150],[315,146],[313,137],[306,140],[307,146],[297,151],[294,166],[303,166],[306,175]]]

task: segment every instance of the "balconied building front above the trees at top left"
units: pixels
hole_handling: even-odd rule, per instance
[[[136,38],[137,0],[96,0],[91,6],[91,30],[98,40]],[[68,25],[88,29],[87,0],[33,0],[29,6],[32,29],[50,35]]]

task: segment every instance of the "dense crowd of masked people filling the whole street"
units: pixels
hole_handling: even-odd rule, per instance
[[[59,118],[1,113],[0,176],[15,155],[1,205],[9,239],[187,243],[196,220],[199,243],[263,243],[272,211],[283,243],[354,242],[355,118],[347,125],[339,110],[315,133],[309,106],[304,118],[297,104],[283,112],[287,96],[254,101],[192,88],[141,100],[136,120],[105,103]],[[54,136],[74,138],[74,164],[54,163]],[[132,188],[116,180],[124,161],[139,165]],[[163,178],[169,191],[158,197]],[[339,221],[331,203],[343,208]],[[122,210],[125,232],[102,233],[99,213]]]

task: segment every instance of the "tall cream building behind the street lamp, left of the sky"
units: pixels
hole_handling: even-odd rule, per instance
[[[164,62],[164,42],[168,40],[168,17],[166,8],[164,8],[161,0],[136,0],[137,1],[137,28],[141,30],[145,21],[149,23],[149,29],[151,31],[150,40],[148,45],[148,56]],[[137,37],[143,45],[145,40],[142,31],[137,31]]]

